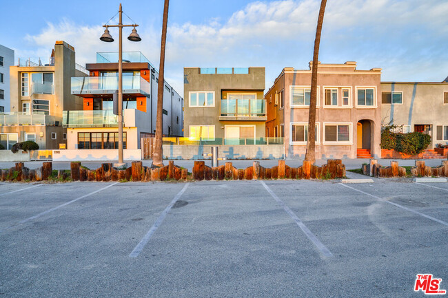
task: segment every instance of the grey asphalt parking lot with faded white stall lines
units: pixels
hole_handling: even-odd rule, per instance
[[[0,297],[424,297],[448,183],[0,182]]]

